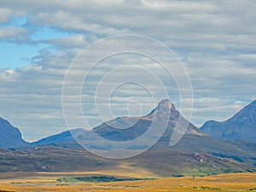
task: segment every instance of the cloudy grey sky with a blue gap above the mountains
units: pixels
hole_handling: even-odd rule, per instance
[[[81,88],[83,113],[91,127],[113,117],[149,113],[166,97],[159,82],[152,80],[155,76],[177,108],[193,101],[190,121],[195,125],[224,121],[255,100],[255,9],[253,0],[0,0],[0,117],[19,127],[27,141],[67,131],[61,90],[74,58],[82,64],[73,75],[82,77],[90,70],[90,59],[78,57],[81,51],[101,39],[136,34],[172,49],[188,74],[193,97],[181,101],[178,93],[183,88],[152,58],[112,55],[99,62]],[[148,49],[138,42],[138,49]],[[113,39],[111,46],[126,45]],[[101,48],[90,57],[105,51]],[[94,96],[108,73],[112,79],[105,79],[98,91],[97,101],[106,112],[101,116]],[[75,87],[76,81],[68,86]],[[113,82],[117,86],[110,90]],[[111,115],[105,110],[108,103]],[[79,118],[73,113],[73,120]]]

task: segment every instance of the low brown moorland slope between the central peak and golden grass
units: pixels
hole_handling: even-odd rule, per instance
[[[225,172],[255,172],[253,166],[210,154],[150,150],[125,160],[109,160],[82,148],[39,147],[1,149],[0,172],[132,172],[151,177],[205,176]]]

